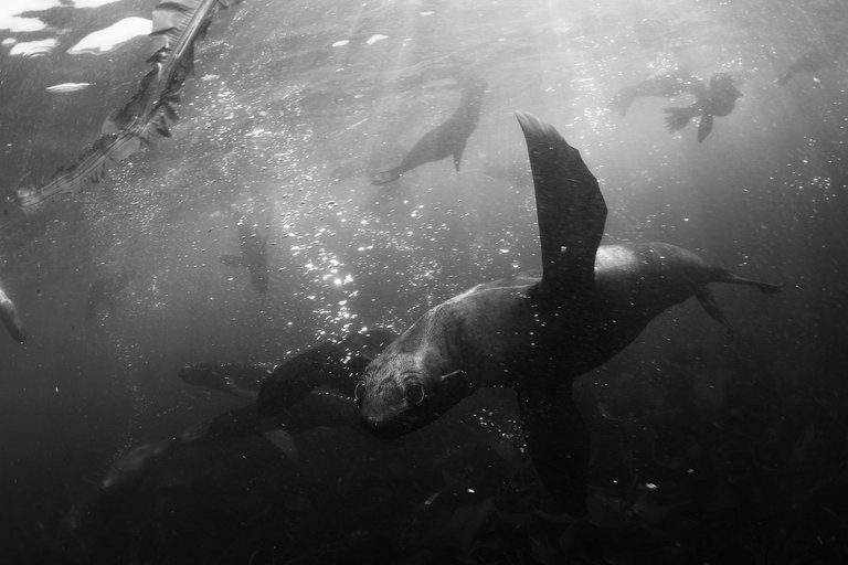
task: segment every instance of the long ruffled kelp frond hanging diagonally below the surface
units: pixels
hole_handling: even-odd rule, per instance
[[[162,137],[170,137],[177,121],[173,108],[180,102],[186,77],[194,66],[194,42],[202,39],[218,10],[241,0],[177,0],[153,9],[151,36],[161,45],[148,62],[153,66],[141,79],[138,92],[103,125],[102,136],[76,164],[60,169],[38,188],[21,188],[23,207],[39,204],[62,192],[82,191],[97,184],[113,164]]]

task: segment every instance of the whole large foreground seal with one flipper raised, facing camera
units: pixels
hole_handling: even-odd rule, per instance
[[[479,387],[512,387],[537,471],[566,511],[582,514],[590,451],[574,379],[691,296],[730,331],[711,282],[766,294],[782,285],[666,243],[600,246],[607,210],[597,180],[552,126],[517,116],[533,173],[541,276],[478,285],[428,310],[369,364],[354,393],[365,425],[398,437]]]

